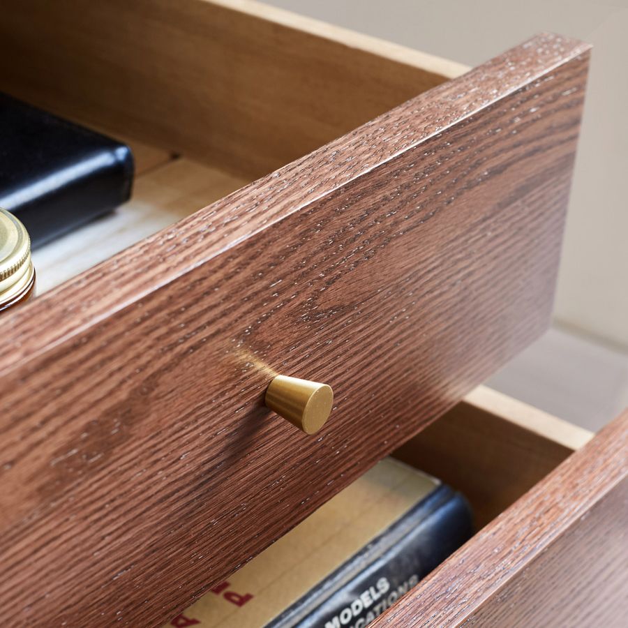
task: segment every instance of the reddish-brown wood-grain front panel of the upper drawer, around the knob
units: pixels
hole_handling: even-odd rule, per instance
[[[533,38],[6,316],[3,612],[165,622],[539,336],[587,51]],[[334,387],[319,435],[274,373]]]

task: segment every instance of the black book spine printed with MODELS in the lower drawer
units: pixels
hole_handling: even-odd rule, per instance
[[[465,498],[441,484],[265,628],[364,627],[472,534]]]

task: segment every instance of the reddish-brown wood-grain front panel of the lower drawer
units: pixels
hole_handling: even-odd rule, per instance
[[[625,626],[628,411],[373,626]]]

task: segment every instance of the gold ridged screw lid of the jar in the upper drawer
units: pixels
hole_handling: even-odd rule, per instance
[[[21,299],[34,278],[29,234],[20,220],[0,207],[0,308]]]

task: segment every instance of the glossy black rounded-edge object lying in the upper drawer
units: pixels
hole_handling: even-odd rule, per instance
[[[133,154],[110,137],[0,94],[0,207],[36,248],[130,196]]]

